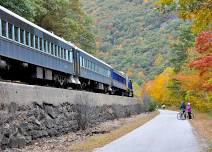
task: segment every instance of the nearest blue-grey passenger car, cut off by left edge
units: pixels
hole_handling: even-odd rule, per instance
[[[16,61],[30,65],[34,78],[76,82],[69,78],[74,75],[73,46],[1,6],[0,57],[1,66],[14,70]]]

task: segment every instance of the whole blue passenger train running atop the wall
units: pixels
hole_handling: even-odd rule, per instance
[[[126,74],[2,6],[0,78],[133,97]]]

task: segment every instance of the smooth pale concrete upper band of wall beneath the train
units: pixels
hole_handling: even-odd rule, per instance
[[[91,99],[92,102],[88,104],[93,106],[112,104],[131,105],[138,102],[137,99],[128,97],[0,82],[0,103],[16,102],[17,104],[30,104],[37,102],[41,104],[47,102],[58,105],[64,102],[71,102],[77,104],[77,98],[80,96]]]

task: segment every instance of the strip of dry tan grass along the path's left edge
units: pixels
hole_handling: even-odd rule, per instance
[[[133,131],[134,129],[142,126],[146,122],[153,119],[159,112],[151,112],[148,114],[142,114],[136,117],[131,122],[126,123],[120,128],[117,128],[110,133],[95,135],[87,138],[84,141],[71,145],[68,149],[74,152],[91,152],[92,150],[102,147],[111,141],[120,138],[121,136]]]

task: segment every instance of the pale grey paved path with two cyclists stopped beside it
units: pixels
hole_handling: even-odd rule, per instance
[[[177,120],[177,112],[160,114],[129,134],[95,152],[199,152],[199,144],[188,120]]]

